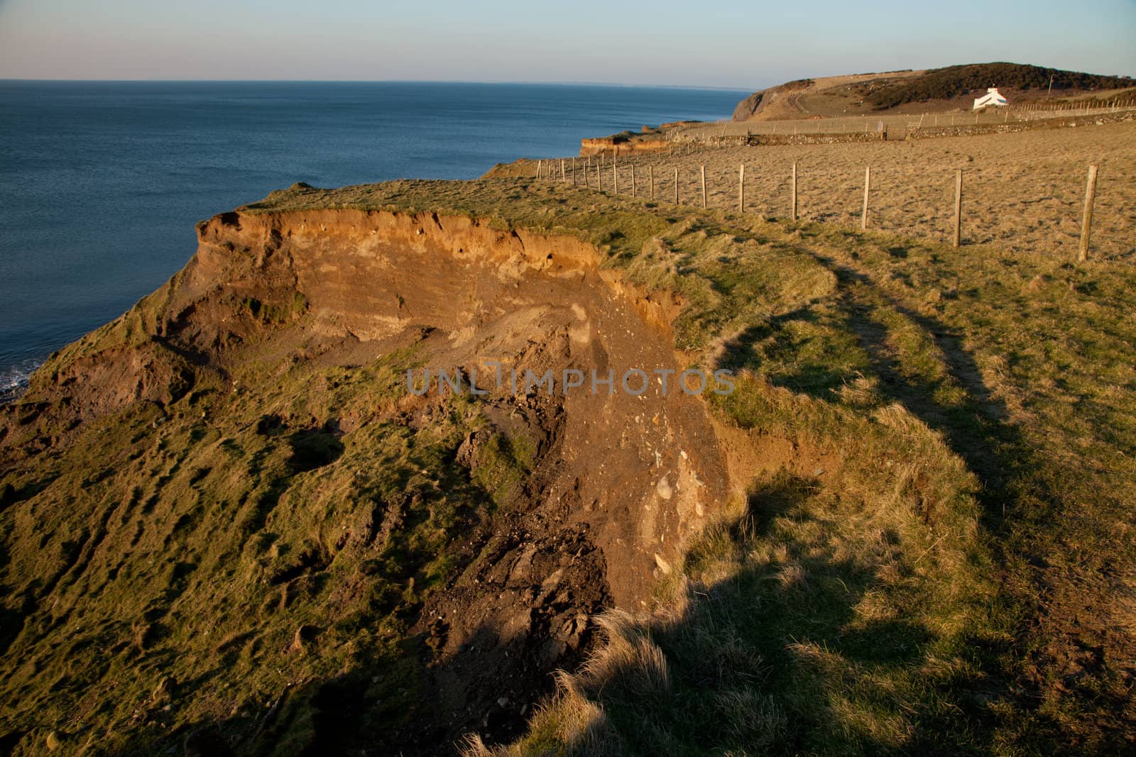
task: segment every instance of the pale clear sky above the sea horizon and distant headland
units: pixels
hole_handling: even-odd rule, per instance
[[[993,60],[1136,75],[1136,0],[0,0],[0,78],[758,89]]]

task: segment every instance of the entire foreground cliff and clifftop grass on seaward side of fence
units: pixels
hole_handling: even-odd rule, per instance
[[[1120,748],[1133,283],[528,179],[274,193],[3,410],[6,745]],[[400,380],[671,348],[737,390]],[[654,612],[576,670],[613,604]]]

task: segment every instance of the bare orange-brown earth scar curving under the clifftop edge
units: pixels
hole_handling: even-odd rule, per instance
[[[529,506],[554,504],[590,524],[620,605],[649,598],[678,545],[725,495],[703,405],[678,386],[684,367],[669,334],[677,303],[600,270],[594,249],[574,237],[432,213],[231,213],[200,229],[172,308],[175,323],[199,329],[194,340],[216,343],[225,339],[208,333],[216,318],[189,326],[202,298],[286,309],[294,293],[309,310],[302,328],[317,338],[377,353],[421,335],[416,376],[424,368],[474,375],[502,428],[538,429],[540,490],[534,485]],[[629,369],[649,373],[648,392],[620,386]],[[676,371],[666,393],[655,369]],[[582,371],[584,385],[565,389],[565,370]],[[527,371],[551,371],[551,392],[526,387]],[[616,386],[593,386],[593,371],[601,379],[611,371]],[[629,384],[637,390],[641,381]]]

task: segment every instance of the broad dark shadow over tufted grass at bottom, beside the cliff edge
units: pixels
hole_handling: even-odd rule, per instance
[[[644,693],[650,656],[601,658],[580,680],[623,754],[982,750],[964,687],[925,670],[942,640],[920,612],[895,613],[919,600],[903,588],[911,556],[886,530],[849,549],[820,496],[784,471],[757,486],[738,520],[692,545],[680,614],[623,632],[624,648],[645,633],[661,650],[665,693]]]

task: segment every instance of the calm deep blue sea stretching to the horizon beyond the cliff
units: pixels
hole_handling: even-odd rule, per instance
[[[0,81],[0,395],[295,182],[475,178],[746,92],[528,84]]]

